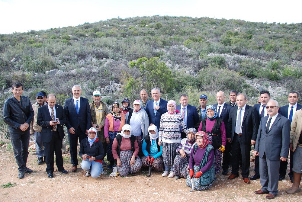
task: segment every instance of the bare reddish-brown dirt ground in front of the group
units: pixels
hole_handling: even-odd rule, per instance
[[[84,170],[71,172],[68,157],[64,157],[64,168],[68,174],[56,171],[54,178],[47,178],[46,165],[37,165],[37,156],[30,152],[27,167],[34,170],[25,174],[25,178],[17,177],[17,164],[12,150],[0,147],[0,185],[9,182],[16,183],[10,188],[0,188],[0,201],[265,201],[266,195],[256,195],[254,191],[261,188],[260,180],[245,184],[242,178],[228,180],[226,176],[216,175],[217,181],[206,191],[189,192],[185,179],[162,177],[161,173],[153,172],[147,178],[147,169],[142,169],[137,175],[127,177],[111,177],[107,175],[99,178],[85,177]],[[250,177],[254,163],[251,162]],[[229,172],[230,173],[230,172]],[[240,171],[239,171],[240,175]],[[279,183],[279,193],[274,201],[302,201],[302,191],[295,194],[286,194],[285,190],[291,187],[286,179]]]

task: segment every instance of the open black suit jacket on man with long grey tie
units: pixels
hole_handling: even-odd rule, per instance
[[[238,106],[231,107],[230,114],[229,114],[226,137],[231,138],[231,141],[233,141],[233,136],[235,133],[237,109]],[[241,134],[242,134],[243,143],[245,145],[250,145],[251,139],[252,140],[257,139],[258,127],[259,127],[259,120],[258,120],[257,110],[252,106],[246,105],[243,114],[243,121],[241,125]]]

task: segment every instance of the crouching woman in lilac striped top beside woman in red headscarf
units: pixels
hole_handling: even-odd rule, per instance
[[[195,128],[189,128],[187,137],[182,139],[176,149],[178,155],[175,156],[173,165],[176,180],[187,177],[189,159],[195,143],[195,133],[197,133]]]

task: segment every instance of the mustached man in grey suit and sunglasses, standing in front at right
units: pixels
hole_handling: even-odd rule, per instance
[[[278,102],[268,101],[269,116],[260,120],[255,156],[260,157],[260,183],[262,188],[255,194],[268,194],[273,199],[278,193],[278,174],[280,160],[286,161],[289,149],[291,122],[278,113]]]

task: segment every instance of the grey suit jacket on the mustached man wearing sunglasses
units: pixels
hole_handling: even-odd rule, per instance
[[[291,122],[281,114],[278,114],[271,128],[266,133],[266,122],[269,116],[262,117],[258,130],[255,151],[263,158],[264,153],[267,159],[279,160],[280,156],[287,158],[289,149],[289,137]]]

